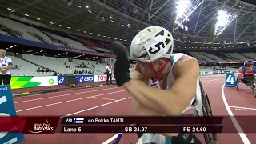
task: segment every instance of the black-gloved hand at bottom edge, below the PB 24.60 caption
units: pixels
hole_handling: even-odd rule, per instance
[[[192,138],[194,139],[194,144],[202,144],[198,138],[195,137],[194,134],[189,134],[189,133],[181,133],[178,134],[177,137],[172,137],[171,138],[171,143],[172,144],[190,144]]]

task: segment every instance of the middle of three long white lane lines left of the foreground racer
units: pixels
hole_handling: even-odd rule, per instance
[[[126,91],[126,90],[119,90],[119,91],[114,91],[114,92],[105,93],[105,94],[97,94],[97,95],[88,96],[86,98],[98,97],[98,96],[107,95],[107,94],[114,94],[114,93],[119,93],[119,92],[122,92],[122,91]],[[64,101],[64,102],[56,102],[56,103],[51,103],[51,104],[48,104],[48,105],[36,106],[36,107],[31,107],[31,108],[23,109],[23,110],[17,110],[16,112],[18,113],[18,112],[26,111],[26,110],[34,110],[34,109],[38,109],[38,108],[42,108],[42,107],[46,107],[46,106],[54,106],[54,105],[58,105],[58,104],[66,103],[66,102],[74,102],[74,101],[78,101],[78,100],[82,100],[82,99],[86,99],[86,98],[77,98],[77,99],[72,99],[72,100]],[[116,101],[114,101],[114,102],[116,102]]]

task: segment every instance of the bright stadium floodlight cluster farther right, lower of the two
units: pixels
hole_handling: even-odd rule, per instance
[[[218,11],[217,22],[215,24],[214,37],[217,38],[222,31],[236,18],[236,14],[231,14],[223,10]]]

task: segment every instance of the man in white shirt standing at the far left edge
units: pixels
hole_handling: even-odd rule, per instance
[[[0,85],[10,85],[12,67],[13,62],[6,57],[6,50],[0,49]]]

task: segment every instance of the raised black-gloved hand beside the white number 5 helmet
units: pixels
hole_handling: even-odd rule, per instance
[[[124,83],[130,81],[129,52],[121,42],[113,42],[110,47],[117,56],[117,60],[114,63],[114,78],[117,85],[122,86]]]

